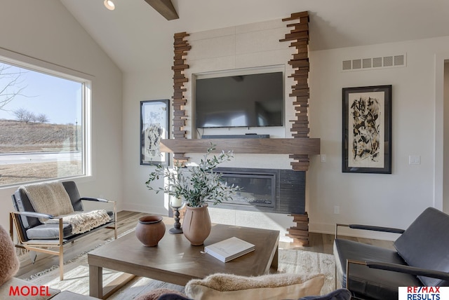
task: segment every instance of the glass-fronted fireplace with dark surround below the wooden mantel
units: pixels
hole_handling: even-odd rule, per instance
[[[228,184],[239,186],[232,201],[214,207],[303,214],[305,173],[293,170],[216,168]]]

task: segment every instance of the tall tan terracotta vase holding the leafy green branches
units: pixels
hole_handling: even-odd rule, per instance
[[[204,240],[210,234],[210,227],[208,203],[204,203],[201,207],[186,205],[182,232],[190,244],[193,246],[203,245]]]

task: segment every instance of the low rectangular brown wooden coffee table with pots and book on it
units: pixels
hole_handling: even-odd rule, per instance
[[[213,273],[256,276],[269,273],[270,268],[277,270],[279,231],[213,224],[204,245],[233,236],[255,245],[255,251],[224,263],[203,253],[204,245],[192,246],[184,235],[168,233],[172,225],[166,226],[166,234],[156,247],[144,247],[132,232],[89,252],[91,296],[103,298],[119,288],[114,285],[109,287],[110,291],[103,291],[102,268],[126,273],[126,282],[132,275],[175,285],[186,285],[191,279],[205,278]]]

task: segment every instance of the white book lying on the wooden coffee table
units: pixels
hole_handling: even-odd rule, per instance
[[[253,244],[241,240],[240,238],[236,238],[235,236],[204,247],[204,252],[223,262],[241,257],[254,250],[255,246]]]

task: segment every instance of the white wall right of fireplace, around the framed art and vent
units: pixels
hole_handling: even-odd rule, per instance
[[[341,48],[311,53],[311,136],[321,137],[326,163],[314,158],[308,172],[311,230],[330,232],[335,223],[406,228],[434,206],[435,53],[449,38]],[[342,72],[342,60],[406,53],[407,66]],[[391,84],[392,174],[341,172],[342,88]],[[419,155],[420,165],[408,156]],[[437,161],[441,164],[441,161]],[[340,214],[333,214],[334,205]],[[437,207],[442,209],[442,207]],[[373,235],[377,236],[377,235]]]

